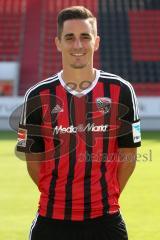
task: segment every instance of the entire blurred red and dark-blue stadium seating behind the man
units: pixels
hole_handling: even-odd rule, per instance
[[[128,79],[138,95],[160,95],[160,1],[1,0],[0,61],[20,62],[19,95],[61,69],[53,43],[60,9],[84,5],[98,18],[95,67]]]

